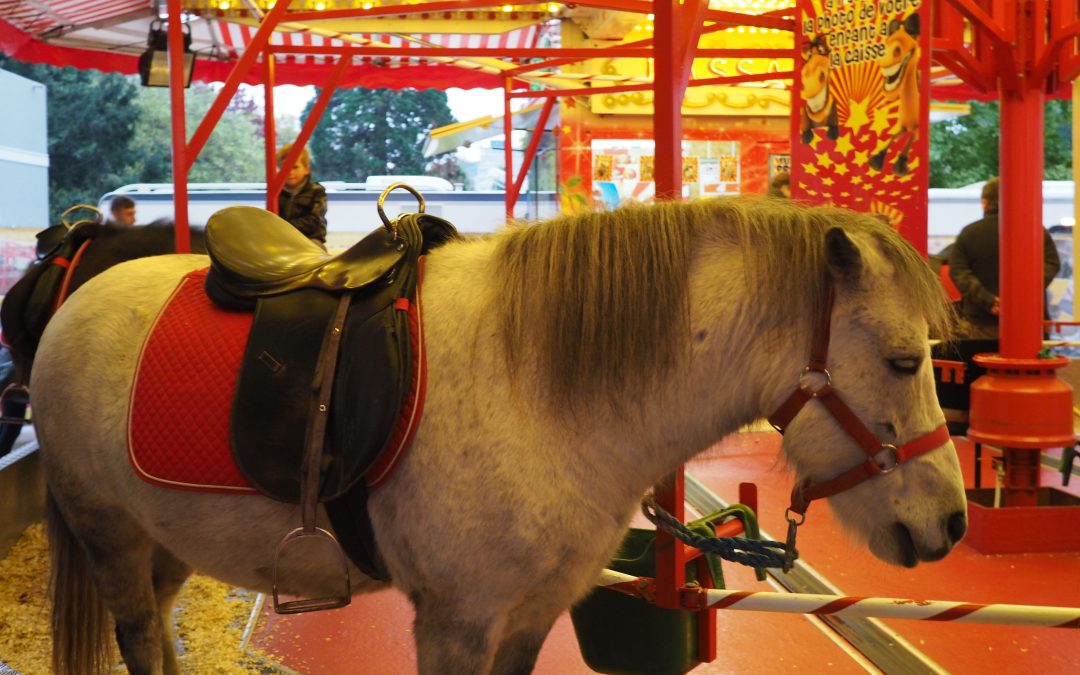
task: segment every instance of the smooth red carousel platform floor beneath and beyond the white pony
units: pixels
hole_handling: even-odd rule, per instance
[[[773,538],[784,531],[789,474],[777,461],[772,432],[735,434],[688,465],[688,473],[727,501],[740,482],[758,485],[760,523]],[[968,486],[973,453],[958,441]],[[983,484],[994,485],[989,462]],[[1043,485],[1061,485],[1061,474],[1043,471]],[[1080,481],[1071,482],[1080,495]],[[815,505],[799,532],[802,558],[846,595],[913,597],[970,603],[1080,606],[1080,552],[984,555],[961,543],[946,559],[915,569],[889,567],[853,548],[824,505]],[[774,590],[753,573],[726,565],[728,588]],[[354,599],[347,608],[291,617],[262,617],[252,643],[271,654],[282,672],[416,672],[413,611],[403,595],[387,591]],[[1030,629],[960,623],[888,621],[921,661],[918,672],[1014,673],[1080,672],[1080,636],[1066,629]],[[829,626],[815,618],[766,612],[720,611],[719,654],[694,673],[879,672]],[[889,669],[887,672],[901,672]],[[578,650],[569,617],[556,623],[537,663],[541,675],[590,673]],[[906,671],[905,671],[906,672]]]

